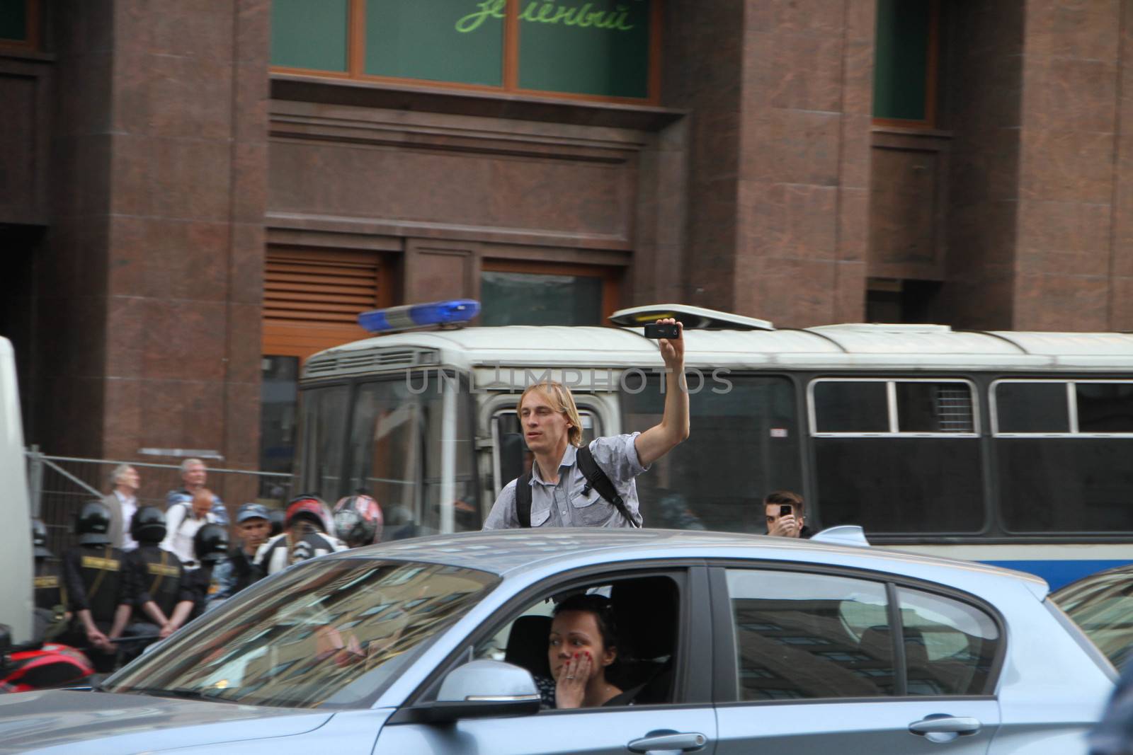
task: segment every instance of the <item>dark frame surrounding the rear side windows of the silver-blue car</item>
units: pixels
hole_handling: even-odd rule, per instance
[[[895,702],[926,702],[926,701],[956,701],[956,700],[996,700],[996,689],[999,685],[999,675],[1003,671],[1004,660],[1007,655],[1007,624],[999,610],[991,603],[964,592],[959,589],[943,585],[917,577],[895,575],[888,572],[874,572],[853,567],[843,567],[828,564],[800,564],[798,561],[759,561],[738,559],[713,559],[708,564],[708,583],[712,595],[713,616],[713,697],[717,705],[747,706],[747,705],[798,705],[819,704],[829,705],[838,703],[875,703],[887,704]],[[811,575],[841,576],[866,582],[879,582],[885,585],[886,599],[889,607],[891,625],[900,621],[900,604],[897,601],[897,587],[908,590],[919,590],[934,595],[949,598],[964,603],[971,608],[980,610],[995,624],[999,637],[996,641],[995,655],[988,669],[988,676],[980,694],[968,695],[885,695],[878,697],[809,697],[803,700],[739,700],[739,672],[735,661],[735,630],[733,627],[731,595],[727,591],[727,569],[749,569],[764,572],[802,572]],[[900,671],[900,687],[908,684],[908,671],[905,669],[905,650],[903,632],[893,632],[893,658],[895,671]]]

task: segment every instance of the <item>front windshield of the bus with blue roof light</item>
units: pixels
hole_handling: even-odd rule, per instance
[[[445,434],[446,398],[452,437]],[[440,532],[446,504],[455,531],[479,529],[472,406],[451,374],[398,374],[307,388],[303,419],[301,484],[325,498],[357,490],[373,496],[382,506],[383,540]],[[445,443],[453,452],[448,495]]]

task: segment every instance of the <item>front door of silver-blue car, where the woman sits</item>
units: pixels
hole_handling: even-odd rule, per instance
[[[673,611],[676,635],[672,653],[672,683],[664,700],[646,701],[621,707],[578,710],[543,710],[531,715],[513,718],[462,719],[454,723],[433,724],[394,715],[383,727],[375,753],[463,752],[516,755],[533,753],[593,755],[625,755],[625,753],[712,753],[716,739],[716,714],[712,704],[712,687],[707,669],[712,668],[708,582],[704,567],[671,568],[664,572],[594,574],[583,583],[557,585],[548,591],[528,595],[522,603],[512,602],[494,621],[484,626],[478,636],[466,645],[466,657],[506,660],[525,664],[525,653],[517,652],[509,637],[520,634],[525,619],[539,618],[553,610],[552,595],[556,599],[570,591],[602,591],[612,593],[612,600],[628,600],[638,604],[623,607],[624,623],[620,632],[649,632],[650,621],[661,621],[649,610],[641,610],[642,590],[639,587],[668,580],[676,589],[678,602]],[[651,581],[651,582],[650,582]],[[611,591],[610,585],[613,585]],[[696,585],[696,586],[693,586]],[[648,592],[647,590],[645,592]],[[540,608],[544,606],[546,610]],[[537,621],[535,621],[537,624]],[[530,621],[528,621],[530,624]],[[514,630],[513,630],[514,628]],[[654,627],[656,629],[656,627]],[[542,637],[542,635],[540,635]],[[546,657],[546,640],[540,638]],[[472,652],[468,653],[467,649]],[[537,654],[537,653],[536,653]],[[653,655],[654,653],[639,653]],[[531,655],[531,653],[527,653]],[[653,659],[640,661],[653,662]],[[657,678],[657,675],[651,675]],[[428,690],[424,690],[407,705],[407,711],[427,705]],[[404,722],[401,722],[404,721]]]

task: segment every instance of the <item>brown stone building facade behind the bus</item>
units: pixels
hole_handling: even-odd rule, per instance
[[[337,2],[341,41],[320,17],[289,49],[296,0],[0,0],[0,333],[31,443],[261,467],[265,375],[361,336],[356,311],[523,321],[500,302],[552,284],[577,321],[1133,328],[1133,3],[611,2],[649,25],[627,96],[525,88],[517,36],[603,3],[438,3],[495,14],[497,86],[390,75],[377,11]],[[340,71],[288,58],[335,45]],[[905,117],[879,113],[909,55]]]

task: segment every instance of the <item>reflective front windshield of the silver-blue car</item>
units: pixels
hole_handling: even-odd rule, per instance
[[[206,615],[102,688],[249,705],[357,706],[497,583],[495,575],[440,564],[301,564]]]

